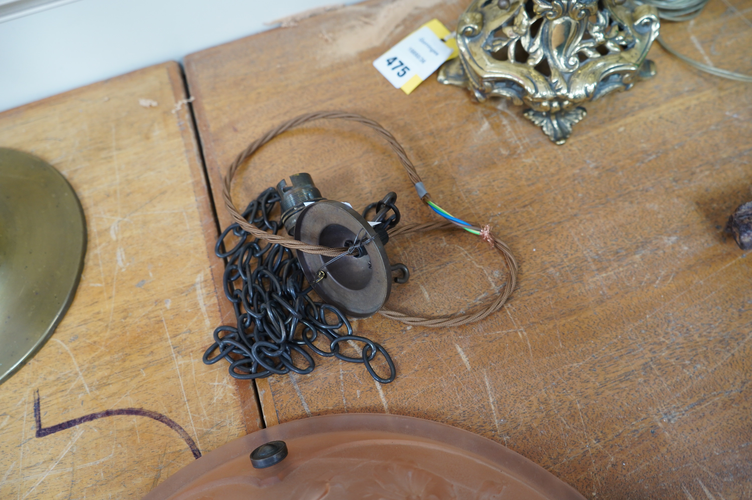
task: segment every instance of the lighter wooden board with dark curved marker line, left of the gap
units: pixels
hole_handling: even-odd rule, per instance
[[[141,498],[201,451],[245,434],[235,385],[202,363],[220,318],[202,226],[214,227],[177,63],[0,114],[0,144],[71,182],[89,244],[74,302],[41,351],[0,386],[0,498]],[[156,107],[144,108],[139,99]],[[210,238],[211,239],[211,238]],[[50,241],[54,245],[54,241]]]

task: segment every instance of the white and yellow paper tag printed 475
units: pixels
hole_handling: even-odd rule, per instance
[[[449,30],[439,20],[432,20],[376,59],[374,68],[396,89],[409,94],[455,55],[455,47]]]

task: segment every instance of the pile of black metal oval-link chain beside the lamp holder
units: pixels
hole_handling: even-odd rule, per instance
[[[276,189],[270,187],[258,198],[250,202],[243,217],[259,229],[277,234],[281,223],[270,220],[271,211],[280,197]],[[372,203],[364,211],[376,208],[380,211],[382,202]],[[399,211],[393,205],[394,215],[384,226],[394,226],[399,222]],[[385,214],[380,214],[384,217]],[[231,250],[223,251],[227,235],[232,234],[238,242]],[[368,338],[353,335],[353,327],[344,314],[333,305],[314,302],[309,296],[313,290],[305,280],[298,258],[289,248],[280,244],[267,243],[259,238],[249,238],[237,224],[231,224],[220,235],[214,252],[220,259],[227,259],[223,288],[226,297],[235,308],[237,326],[220,326],[214,330],[214,344],[204,353],[203,360],[212,365],[226,359],[232,377],[250,380],[268,377],[271,374],[309,374],[314,370],[314,359],[303,347],[324,357],[336,357],[342,361],[362,363],[374,380],[390,383],[396,376],[392,358],[384,347]],[[237,286],[235,286],[237,283]],[[329,312],[336,317],[336,323],[326,320]],[[341,335],[338,330],[346,329]],[[314,344],[317,339],[318,346]],[[340,352],[342,341],[350,345],[362,343],[360,357],[345,356]],[[324,350],[321,347],[326,347]],[[215,350],[216,356],[210,357]],[[293,362],[293,351],[305,362],[299,368]],[[387,360],[389,377],[382,378],[371,367],[371,361],[378,353]]]

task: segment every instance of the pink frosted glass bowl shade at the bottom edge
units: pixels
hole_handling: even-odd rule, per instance
[[[287,456],[254,468],[250,453],[284,441]],[[144,500],[414,498],[584,500],[496,441],[414,417],[338,414],[253,432],[191,462]]]

